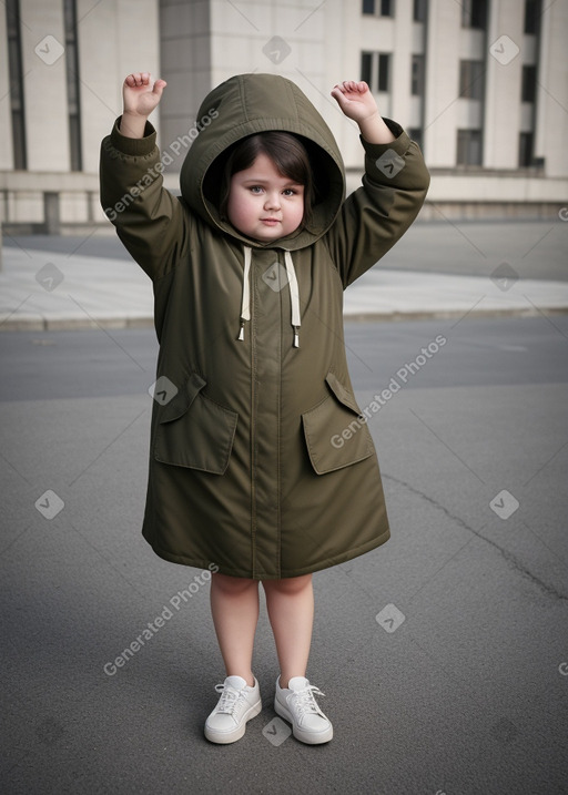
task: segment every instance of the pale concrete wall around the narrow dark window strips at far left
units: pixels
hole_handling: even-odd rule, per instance
[[[158,0],[93,3],[77,0],[83,171],[70,173],[69,105],[63,3],[20,0],[28,170],[13,172],[6,9],[0,8],[0,191],[1,218],[41,228],[45,194],[60,193],[62,223],[103,221],[93,201],[101,140],[121,113],[121,86],[132,71],[159,71]],[[156,125],[158,114],[152,120]],[[63,193],[63,185],[68,192]]]

